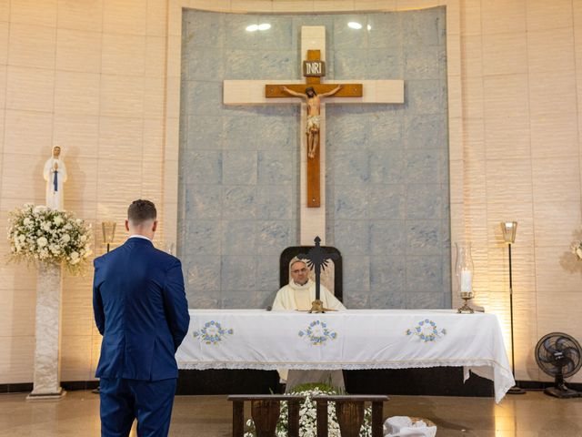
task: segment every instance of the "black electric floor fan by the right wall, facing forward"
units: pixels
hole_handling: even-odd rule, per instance
[[[542,371],[556,378],[554,387],[544,392],[557,398],[577,398],[582,393],[568,389],[564,378],[580,370],[582,348],[572,336],[563,332],[547,334],[536,345],[536,361]]]

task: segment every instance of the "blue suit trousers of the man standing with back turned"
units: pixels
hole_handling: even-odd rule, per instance
[[[176,378],[161,381],[101,378],[101,436],[126,437],[137,419],[139,437],[166,437]]]

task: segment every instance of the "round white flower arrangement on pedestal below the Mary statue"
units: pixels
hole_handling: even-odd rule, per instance
[[[61,263],[73,273],[93,252],[91,226],[70,212],[26,203],[9,213],[10,258]]]

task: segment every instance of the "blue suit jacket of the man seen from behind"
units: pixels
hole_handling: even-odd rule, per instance
[[[180,260],[133,238],[94,265],[93,310],[103,335],[95,376],[176,378],[174,355],[190,321]]]

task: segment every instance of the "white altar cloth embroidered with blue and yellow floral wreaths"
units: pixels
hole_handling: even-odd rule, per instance
[[[180,369],[404,369],[458,366],[515,384],[497,316],[455,310],[190,310]]]

